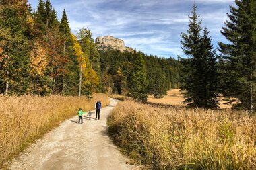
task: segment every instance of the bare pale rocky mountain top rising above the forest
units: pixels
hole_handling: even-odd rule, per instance
[[[95,39],[96,48],[99,51],[104,50],[120,50],[124,52],[127,50],[128,52],[133,52],[133,48],[125,46],[125,42],[119,38],[115,38],[113,36],[98,36]]]

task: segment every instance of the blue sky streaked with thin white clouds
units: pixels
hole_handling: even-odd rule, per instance
[[[28,0],[36,9],[38,0]],[[83,26],[93,37],[115,36],[125,45],[146,54],[177,58],[181,50],[181,32],[187,32],[188,15],[194,0],[52,0],[57,16],[67,12],[72,32]],[[210,30],[212,42],[226,42],[220,34],[234,0],[197,0],[197,14]]]

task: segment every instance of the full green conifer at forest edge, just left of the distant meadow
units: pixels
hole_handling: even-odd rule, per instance
[[[129,92],[133,99],[137,101],[146,101],[147,95],[147,79],[146,68],[141,52],[134,52],[135,58],[133,68],[129,77]]]

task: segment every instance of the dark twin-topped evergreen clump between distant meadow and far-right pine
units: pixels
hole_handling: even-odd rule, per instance
[[[201,21],[198,22],[196,9],[196,5],[193,5],[187,34],[181,34],[183,52],[189,56],[187,59],[180,58],[183,63],[181,89],[185,92],[185,102],[189,105],[216,108],[216,58],[207,29],[201,36],[203,28]]]

